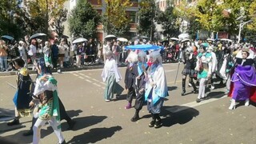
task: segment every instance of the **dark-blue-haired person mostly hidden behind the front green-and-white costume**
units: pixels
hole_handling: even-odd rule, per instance
[[[44,58],[40,58],[39,59],[37,67],[38,67],[37,68],[38,69],[38,76],[37,76],[37,78],[41,78],[45,74],[51,75],[50,69],[48,69],[46,67],[46,62],[44,61]],[[34,89],[34,87],[32,86],[31,87],[31,91],[34,91],[33,89]],[[72,120],[70,118],[70,116],[66,113],[65,106],[63,105],[63,103],[62,103],[62,101],[61,101],[61,99],[59,97],[58,97],[58,103],[59,103],[59,111],[60,111],[60,118],[61,118],[60,120],[62,121],[63,119],[65,119],[66,122],[69,125],[69,129],[72,130],[73,127],[74,127],[75,121]],[[33,119],[32,119],[32,126],[30,127],[30,130],[28,130],[25,133],[23,133],[23,136],[33,135],[33,126],[34,126],[34,123],[36,121],[37,121],[37,118],[33,117]]]

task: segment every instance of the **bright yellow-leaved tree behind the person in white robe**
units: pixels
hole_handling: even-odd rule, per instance
[[[126,8],[131,6],[130,0],[105,0],[106,13],[102,22],[107,34],[122,36],[130,30],[130,19],[127,18]]]

